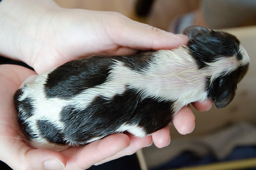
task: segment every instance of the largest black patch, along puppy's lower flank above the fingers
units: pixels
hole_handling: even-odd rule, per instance
[[[127,90],[112,100],[97,97],[82,111],[66,107],[60,113],[61,122],[65,124],[64,136],[81,144],[93,137],[113,134],[125,122],[139,124],[151,134],[172,121],[172,102],[158,102],[153,98],[140,101],[135,90]]]

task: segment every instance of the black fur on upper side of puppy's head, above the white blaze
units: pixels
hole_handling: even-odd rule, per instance
[[[233,35],[225,32],[205,29],[194,35],[188,41],[190,55],[195,58],[199,68],[207,66],[220,57],[236,56],[241,60],[240,41]]]

